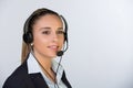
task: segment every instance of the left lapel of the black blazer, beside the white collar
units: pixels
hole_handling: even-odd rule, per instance
[[[28,88],[49,88],[40,73],[28,74],[27,61],[22,64],[21,68],[21,73],[23,73],[21,77],[24,78]]]

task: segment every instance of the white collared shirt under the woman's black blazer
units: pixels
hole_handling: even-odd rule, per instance
[[[54,73],[57,73],[57,68],[58,68],[58,63],[53,59],[52,61],[52,69]],[[58,74],[57,74],[57,84],[54,84],[53,81],[51,81],[42,72],[39,63],[37,62],[37,59],[33,57],[33,55],[30,53],[29,58],[28,58],[28,73],[29,74],[33,74],[33,73],[41,73],[41,75],[43,76],[44,80],[47,81],[47,85],[49,86],[49,88],[66,88],[66,86],[62,82],[61,78],[63,75],[63,67],[62,65],[59,66],[58,69]]]

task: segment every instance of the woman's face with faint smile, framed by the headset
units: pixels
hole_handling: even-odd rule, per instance
[[[41,16],[33,24],[34,54],[45,58],[53,58],[64,43],[63,23],[53,14]]]

